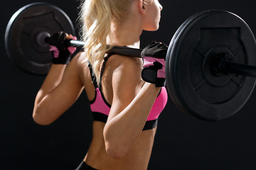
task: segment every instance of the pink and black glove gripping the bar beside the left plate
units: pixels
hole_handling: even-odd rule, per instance
[[[65,40],[77,40],[73,35],[61,31],[53,34],[49,38],[50,51],[53,52],[53,64],[68,64],[70,56],[76,50],[76,47],[68,47],[65,45]]]

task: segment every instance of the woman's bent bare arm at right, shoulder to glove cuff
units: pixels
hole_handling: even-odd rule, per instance
[[[112,74],[112,107],[103,135],[107,153],[117,159],[137,141],[159,93],[154,84],[142,81],[141,72],[142,61],[129,59]]]

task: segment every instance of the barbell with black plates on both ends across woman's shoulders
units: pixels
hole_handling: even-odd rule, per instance
[[[73,23],[60,8],[33,3],[11,17],[6,52],[25,72],[44,75],[51,65],[47,39]],[[70,40],[68,46],[83,47]],[[140,57],[141,49],[114,46],[111,52]],[[255,87],[255,36],[247,23],[229,11],[196,13],[176,30],[166,55],[166,88],[176,106],[195,118],[218,121],[237,113]]]

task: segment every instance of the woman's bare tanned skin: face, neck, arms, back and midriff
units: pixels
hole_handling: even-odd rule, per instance
[[[142,30],[159,28],[162,6],[159,1],[133,1],[129,15],[112,23],[112,45],[139,48]],[[113,29],[114,28],[114,29]],[[71,35],[70,35],[71,36]],[[109,41],[110,43],[110,41]],[[85,53],[80,52],[67,65],[53,64],[38,91],[33,119],[49,125],[60,117],[86,91],[95,98]],[[84,161],[95,169],[147,169],[156,128],[142,131],[160,88],[142,81],[142,59],[112,55],[105,65],[102,93],[112,105],[107,123],[93,123],[93,137]],[[149,92],[150,91],[150,92]]]

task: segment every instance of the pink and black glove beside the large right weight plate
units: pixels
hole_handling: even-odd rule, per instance
[[[143,60],[142,79],[156,84],[156,87],[165,86],[165,59],[168,47],[161,42],[151,42],[141,53]]]

